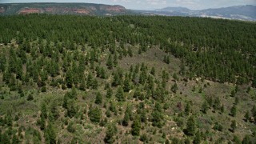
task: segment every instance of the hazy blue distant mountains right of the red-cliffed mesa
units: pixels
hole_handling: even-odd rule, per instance
[[[148,15],[158,14],[167,16],[210,17],[256,21],[256,6],[253,5],[230,6],[206,10],[190,10],[185,7],[166,7],[158,10],[139,12]]]

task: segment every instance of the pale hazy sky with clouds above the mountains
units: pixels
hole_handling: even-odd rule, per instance
[[[182,6],[192,10],[218,8],[237,5],[256,5],[256,0],[0,0],[0,3],[18,2],[88,2],[110,5],[122,5],[127,9],[154,10],[167,6]]]

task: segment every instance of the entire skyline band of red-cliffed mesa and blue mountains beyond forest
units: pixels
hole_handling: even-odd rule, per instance
[[[256,21],[256,6],[230,6],[218,9],[190,10],[186,7],[166,7],[158,10],[127,10],[123,6],[94,3],[12,3],[0,4],[0,15],[8,14],[82,14],[82,15],[166,15],[239,19]]]

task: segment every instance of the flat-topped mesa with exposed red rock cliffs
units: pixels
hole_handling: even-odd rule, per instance
[[[123,6],[94,3],[12,3],[0,4],[0,14],[82,14],[120,15],[130,14]]]

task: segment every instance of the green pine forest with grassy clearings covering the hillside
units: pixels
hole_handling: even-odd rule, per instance
[[[256,142],[256,24],[0,16],[0,143]]]

